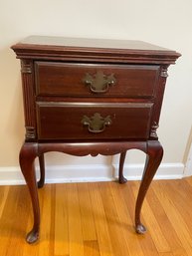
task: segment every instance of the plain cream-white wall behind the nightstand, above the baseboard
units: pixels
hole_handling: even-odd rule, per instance
[[[190,0],[0,0],[2,173],[18,170],[18,151],[24,137],[20,64],[10,46],[29,35],[138,39],[180,52],[182,57],[169,69],[158,134],[165,149],[164,164],[182,164],[192,116],[191,24]],[[142,161],[143,154],[135,151],[126,159],[131,164]],[[80,164],[81,168],[85,164],[108,166],[116,163],[116,157],[49,153],[47,162]],[[4,178],[0,173],[0,179]]]

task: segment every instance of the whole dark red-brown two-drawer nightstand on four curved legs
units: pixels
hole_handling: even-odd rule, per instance
[[[37,188],[45,182],[44,153],[49,151],[77,156],[120,153],[119,183],[126,182],[126,151],[145,152],[135,207],[136,232],[144,233],[141,206],[163,155],[156,129],[167,68],[180,55],[141,41],[36,36],[12,49],[21,59],[25,112],[20,166],[34,213],[27,241],[34,243],[39,237]],[[38,182],[36,157],[40,162]]]

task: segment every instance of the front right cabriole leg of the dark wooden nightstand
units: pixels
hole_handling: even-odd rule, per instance
[[[142,203],[148,187],[152,181],[154,174],[161,162],[163,156],[163,148],[158,140],[151,140],[147,142],[147,150],[146,150],[146,162],[145,168],[142,176],[142,181],[140,184],[140,188],[138,191],[138,196],[136,200],[135,207],[135,229],[139,234],[143,234],[146,231],[144,225],[140,222],[140,211],[142,207]]]

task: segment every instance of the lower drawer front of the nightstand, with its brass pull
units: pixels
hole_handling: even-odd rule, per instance
[[[39,139],[148,138],[152,104],[37,103]]]

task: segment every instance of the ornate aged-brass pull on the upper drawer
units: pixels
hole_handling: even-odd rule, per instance
[[[87,73],[83,79],[83,82],[87,86],[90,86],[91,91],[95,94],[106,93],[109,86],[116,84],[116,80],[113,74],[106,76],[102,71],[97,71],[94,76]]]

